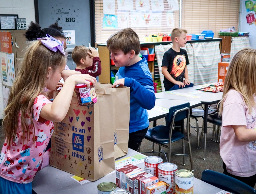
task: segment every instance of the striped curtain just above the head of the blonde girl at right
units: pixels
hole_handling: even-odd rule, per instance
[[[249,37],[232,37],[231,42],[231,59],[242,48],[250,47]]]

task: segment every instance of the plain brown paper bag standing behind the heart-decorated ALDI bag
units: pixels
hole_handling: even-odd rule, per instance
[[[97,95],[112,96],[112,122],[115,137],[115,159],[128,153],[130,121],[130,88],[112,88],[111,84],[96,83]]]

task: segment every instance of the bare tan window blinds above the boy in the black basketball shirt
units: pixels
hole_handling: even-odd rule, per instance
[[[240,0],[182,0],[181,27],[190,34],[212,30],[218,38],[220,29],[238,30]]]

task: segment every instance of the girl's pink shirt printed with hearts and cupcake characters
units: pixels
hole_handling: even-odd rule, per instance
[[[39,95],[33,105],[33,120],[35,126],[35,142],[33,141],[33,125],[31,120],[27,118],[30,133],[29,140],[22,137],[21,117],[18,116],[18,128],[16,137],[11,145],[5,141],[0,154],[0,176],[7,180],[17,183],[30,183],[42,163],[42,158],[52,136],[54,125],[52,121],[38,122],[40,112],[45,104],[52,103],[44,95]],[[24,143],[22,140],[24,139]]]

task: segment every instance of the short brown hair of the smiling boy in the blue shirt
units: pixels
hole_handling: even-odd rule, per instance
[[[134,50],[135,54],[138,55],[140,53],[140,39],[132,28],[124,28],[107,40],[107,48],[111,52],[122,50],[125,55]]]

